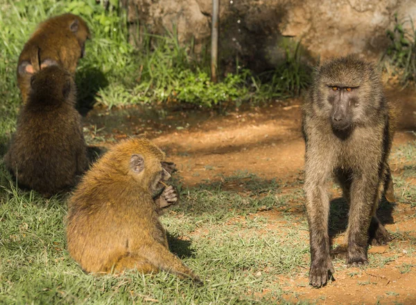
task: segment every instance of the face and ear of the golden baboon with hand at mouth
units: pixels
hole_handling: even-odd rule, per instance
[[[161,160],[155,158],[145,160],[141,154],[132,154],[130,157],[130,170],[135,178],[146,185],[152,193],[162,190],[164,185],[161,181],[167,181],[171,178],[171,174],[162,167]]]

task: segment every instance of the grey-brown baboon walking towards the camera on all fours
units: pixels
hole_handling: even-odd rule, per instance
[[[373,243],[390,234],[376,218],[381,190],[394,200],[388,155],[397,114],[385,100],[381,77],[370,63],[349,55],[315,71],[303,107],[306,210],[311,243],[310,284],[320,287],[333,273],[329,256],[327,181],[335,177],[349,202],[347,264],[367,263]]]

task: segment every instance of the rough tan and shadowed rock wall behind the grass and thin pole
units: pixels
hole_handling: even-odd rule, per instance
[[[211,0],[130,0],[128,11],[132,40],[139,42],[137,33],[146,28],[157,34],[176,30],[182,44],[193,37],[197,52],[209,42]],[[416,1],[222,0],[220,58],[238,57],[261,71],[279,62],[284,37],[293,37],[313,56],[360,53],[374,59],[388,45],[385,30],[395,12],[416,20]]]

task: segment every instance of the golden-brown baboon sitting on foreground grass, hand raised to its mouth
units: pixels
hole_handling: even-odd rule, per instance
[[[86,272],[143,273],[164,270],[181,278],[199,277],[168,250],[166,231],[159,221],[162,207],[177,200],[163,181],[164,153],[144,138],[120,142],[92,169],[69,199],[69,254]]]

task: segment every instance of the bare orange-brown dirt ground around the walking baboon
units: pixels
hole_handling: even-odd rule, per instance
[[[416,94],[388,91],[388,98],[404,105],[404,113],[395,136],[393,151],[415,136]],[[144,135],[162,147],[168,160],[177,164],[184,185],[197,185],[245,170],[262,178],[293,181],[302,177],[304,142],[300,131],[301,100],[268,104],[223,115],[201,111],[152,112],[148,109],[121,109],[105,115],[91,111],[85,128],[92,130],[93,142],[110,143],[126,135]],[[116,119],[114,119],[114,115]],[[112,118],[111,118],[112,116]],[[95,132],[96,131],[96,132]],[[392,160],[392,174],[399,174],[400,164]],[[415,179],[413,183],[416,184]],[[302,203],[298,203],[301,205]],[[270,212],[269,212],[270,213]],[[405,230],[416,237],[415,211],[410,205],[395,207],[390,231]],[[279,221],[270,216],[270,221]],[[404,241],[406,242],[406,241]],[[371,251],[391,257],[389,247]],[[318,304],[416,304],[416,269],[402,272],[400,266],[416,266],[415,257],[397,255],[383,268],[352,268],[336,271],[336,281],[322,289],[313,289],[306,277],[277,279],[288,299],[315,300]],[[307,270],[306,270],[307,271]],[[295,297],[294,294],[295,293]]]

